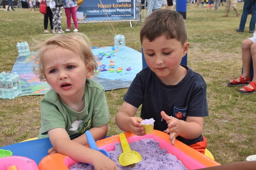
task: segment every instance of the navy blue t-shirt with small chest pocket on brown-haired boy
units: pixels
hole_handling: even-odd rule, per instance
[[[142,104],[141,118],[153,118],[156,130],[165,131],[167,129],[167,123],[164,119],[162,120],[161,111],[184,121],[187,116],[208,116],[204,79],[187,66],[183,67],[188,72],[177,85],[165,85],[149,68],[141,70],[123,98],[124,101],[137,108]],[[203,136],[200,135],[196,139],[177,136],[176,139],[187,145],[192,145],[203,141]]]

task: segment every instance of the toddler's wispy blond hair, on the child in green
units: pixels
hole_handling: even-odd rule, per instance
[[[34,40],[34,67],[33,72],[40,80],[45,80],[44,66],[42,63],[43,54],[57,47],[68,49],[73,53],[79,54],[86,64],[89,64],[92,70],[97,70],[95,57],[91,52],[89,38],[83,33],[57,34],[50,37],[42,37],[40,40]],[[54,57],[54,56],[52,56]],[[70,56],[71,57],[71,56]]]

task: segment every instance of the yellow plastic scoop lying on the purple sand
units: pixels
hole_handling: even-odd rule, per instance
[[[119,156],[119,163],[122,166],[128,166],[130,164],[140,162],[141,156],[138,152],[131,150],[129,143],[125,137],[124,133],[119,134],[123,153]]]

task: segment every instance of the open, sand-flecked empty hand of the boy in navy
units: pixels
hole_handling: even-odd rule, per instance
[[[171,145],[174,146],[176,136],[178,136],[183,130],[182,121],[175,117],[168,116],[164,111],[161,112],[161,116],[168,124],[168,128],[165,132],[167,134],[170,133],[169,140],[171,141]]]

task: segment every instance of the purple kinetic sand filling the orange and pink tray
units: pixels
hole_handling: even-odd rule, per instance
[[[120,143],[114,145],[115,150],[109,151],[110,159],[113,160],[119,170],[132,170],[132,169],[168,169],[168,170],[187,170],[183,163],[176,158],[176,156],[167,153],[165,149],[159,147],[159,142],[153,139],[142,139],[129,144],[131,150],[137,151],[142,161],[129,166],[121,166],[118,158],[123,153]],[[99,160],[100,161],[100,160]],[[69,167],[69,170],[94,170],[94,167],[86,163],[75,163]]]

